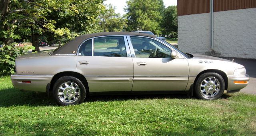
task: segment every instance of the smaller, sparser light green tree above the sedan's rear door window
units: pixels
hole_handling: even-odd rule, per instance
[[[104,14],[99,16],[99,24],[103,32],[121,32],[127,27],[127,19],[119,13],[115,13],[116,8],[111,4],[106,5]]]

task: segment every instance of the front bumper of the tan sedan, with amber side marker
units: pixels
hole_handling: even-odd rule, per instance
[[[249,83],[250,80],[250,76],[249,75],[231,75],[231,76],[227,76],[228,77],[228,91],[230,90],[240,90],[243,89],[244,87],[246,87]],[[242,84],[238,84],[238,83],[234,83],[234,81],[248,81],[247,83],[242,83]]]

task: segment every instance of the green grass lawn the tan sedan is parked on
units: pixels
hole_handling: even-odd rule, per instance
[[[256,135],[256,96],[224,94],[88,97],[58,106],[44,93],[14,89],[0,77],[0,135]]]

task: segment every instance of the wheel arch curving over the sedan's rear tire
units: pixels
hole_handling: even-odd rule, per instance
[[[54,83],[60,78],[60,77],[64,77],[64,76],[72,76],[72,77],[76,77],[78,78],[83,84],[84,84],[84,87],[86,89],[86,92],[89,93],[89,86],[88,86],[88,82],[86,80],[86,78],[80,74],[80,73],[77,73],[77,72],[74,72],[74,71],[64,71],[64,72],[60,72],[60,73],[57,73],[56,75],[54,75],[54,77],[52,77],[52,80],[50,82],[50,92],[52,92],[52,89],[53,89],[53,86],[54,86]]]

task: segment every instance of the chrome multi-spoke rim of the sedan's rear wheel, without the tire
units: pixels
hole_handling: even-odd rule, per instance
[[[75,102],[80,97],[80,88],[74,82],[64,82],[58,89],[58,97],[65,103]]]

